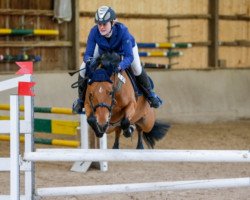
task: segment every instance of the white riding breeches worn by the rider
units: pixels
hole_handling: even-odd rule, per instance
[[[99,57],[98,48],[99,47],[96,44],[93,58]],[[132,71],[133,71],[134,75],[135,76],[139,76],[142,73],[142,66],[141,66],[141,60],[140,60],[140,57],[139,57],[139,52],[138,52],[138,46],[137,46],[137,44],[135,44],[135,46],[132,48],[132,50],[133,50],[134,60],[131,63],[131,68],[132,68]],[[80,69],[85,68],[85,66],[86,66],[86,63],[83,61],[82,64],[81,64],[81,66],[80,66]],[[80,71],[81,77],[84,78],[85,77],[85,73],[86,73],[85,69],[81,70]]]

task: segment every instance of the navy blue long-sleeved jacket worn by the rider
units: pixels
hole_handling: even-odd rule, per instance
[[[122,23],[114,24],[110,38],[102,36],[97,25],[91,29],[84,54],[85,63],[93,57],[96,44],[99,46],[100,55],[105,52],[116,52],[123,56],[123,60],[119,64],[122,70],[130,67],[134,60],[132,48],[135,46],[135,39]]]

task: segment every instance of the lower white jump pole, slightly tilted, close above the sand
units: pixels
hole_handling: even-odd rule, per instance
[[[175,182],[130,183],[116,185],[91,185],[76,187],[38,188],[38,196],[103,195],[112,193],[155,192],[190,189],[249,187],[250,178],[211,179]]]

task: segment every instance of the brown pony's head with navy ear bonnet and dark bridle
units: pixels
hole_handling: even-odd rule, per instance
[[[110,77],[120,60],[116,53],[104,53],[97,58],[98,67],[91,74],[87,89],[91,112],[88,122],[97,137],[102,137],[109,126],[112,108],[115,105],[115,89]]]

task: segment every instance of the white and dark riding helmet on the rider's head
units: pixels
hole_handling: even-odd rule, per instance
[[[101,6],[95,13],[95,23],[105,24],[116,19],[115,11],[108,6]]]

